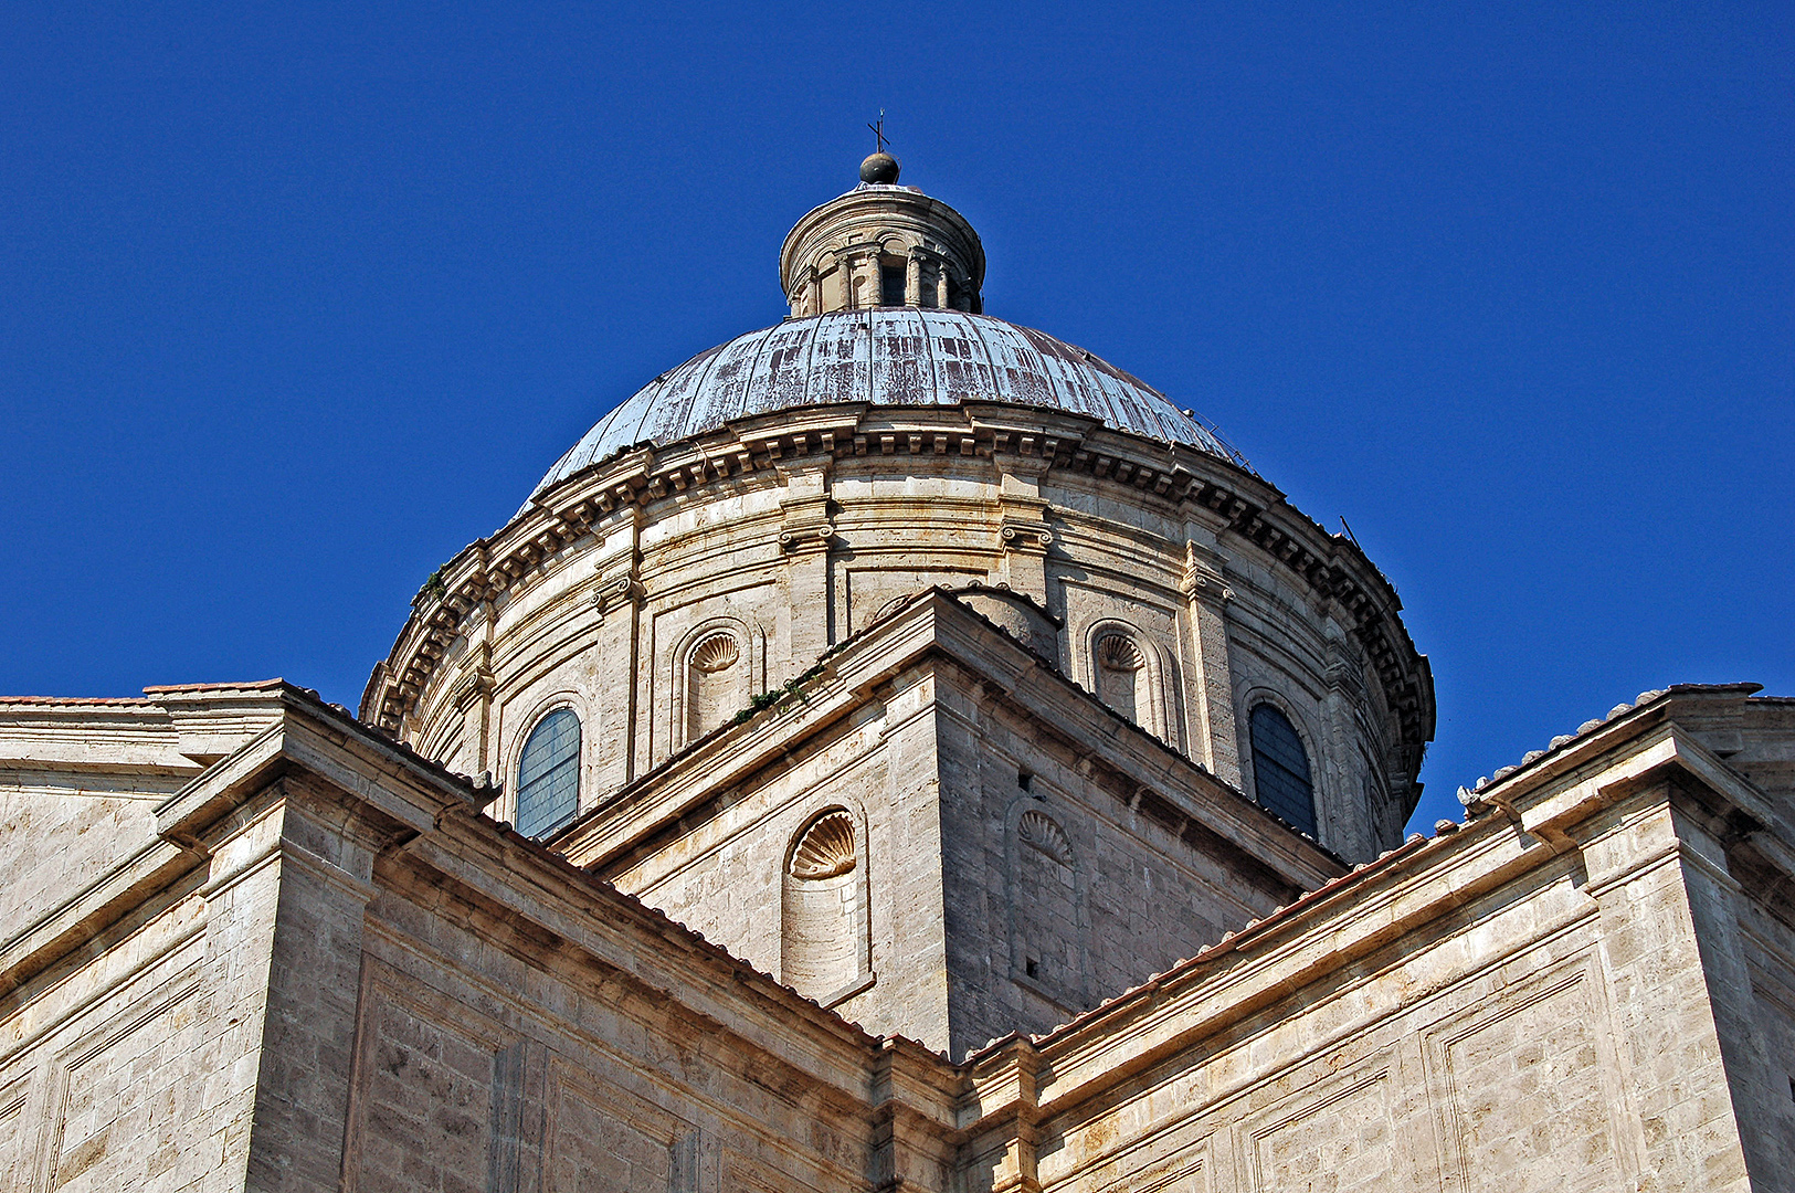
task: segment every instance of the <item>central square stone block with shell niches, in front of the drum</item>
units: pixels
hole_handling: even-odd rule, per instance
[[[984,653],[962,653],[966,664],[930,653],[932,617]],[[892,642],[906,639],[898,657],[915,662],[898,666]],[[1016,666],[1030,669],[1020,684],[1032,710],[991,678]],[[1256,836],[1230,841],[1197,827],[1195,809],[1143,800],[1140,779],[1097,761],[1120,743],[1152,768],[1176,755],[953,599],[880,623],[831,673],[790,700],[784,725],[727,730],[556,849],[824,1006],[955,1057],[1064,1023],[1294,899],[1301,881],[1255,856],[1271,841],[1318,866],[1292,874],[1337,872],[1213,780],[1181,791],[1151,775],[1154,789],[1219,805]],[[1086,721],[1077,741],[1068,703]],[[865,836],[854,870],[827,881],[845,901],[833,922],[853,927],[867,965],[820,981],[808,962],[792,965],[795,936],[804,956],[822,949],[793,847],[831,809]]]

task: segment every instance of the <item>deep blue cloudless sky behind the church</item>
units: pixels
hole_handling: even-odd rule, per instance
[[[354,707],[609,405],[779,319],[885,108],[991,314],[1352,522],[1418,825],[1641,689],[1795,694],[1795,5],[174,7],[0,11],[4,692]]]

